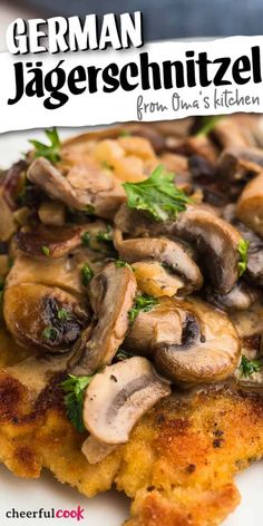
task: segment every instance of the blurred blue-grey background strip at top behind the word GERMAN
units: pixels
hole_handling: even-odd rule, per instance
[[[9,21],[21,17],[144,12],[145,40],[263,32],[262,0],[0,0],[0,45]],[[2,49],[1,49],[2,50]]]

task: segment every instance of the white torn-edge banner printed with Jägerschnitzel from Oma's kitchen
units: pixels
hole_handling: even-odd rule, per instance
[[[253,49],[255,49],[253,55]],[[186,57],[187,51],[194,51],[194,68],[196,86],[189,87],[187,79]],[[224,75],[224,85],[215,86],[215,76],[220,75],[218,60],[216,64],[207,66],[207,77],[211,84],[207,87],[201,86],[198,53],[207,53],[207,59],[214,61],[221,58],[228,58]],[[148,62],[156,62],[159,68],[155,71],[155,82],[160,87],[154,88],[153,69],[142,68],[142,53],[147,53]],[[256,111],[263,113],[263,81],[262,65],[263,37],[232,37],[218,40],[206,40],[197,42],[163,41],[148,43],[140,48],[127,50],[96,50],[78,51],[65,53],[38,53],[26,56],[13,56],[9,52],[0,53],[0,132],[18,130],[27,128],[39,128],[49,126],[91,126],[129,120],[162,120],[182,118],[189,115],[217,115],[234,111]],[[192,60],[192,62],[194,62]],[[178,71],[172,71],[173,87],[165,87],[163,62],[182,61],[182,71],[185,86],[178,87]],[[23,79],[21,76],[16,82],[14,65],[21,62],[23,66]],[[68,96],[68,100],[59,108],[48,109],[45,101],[51,100],[53,105],[58,101],[50,92],[50,88],[45,86],[46,76],[50,70],[59,68],[65,71],[65,82],[58,89],[60,94]],[[138,84],[134,89],[126,91],[121,86],[113,92],[105,92],[107,86],[103,79],[101,71],[109,65],[117,65],[118,71],[127,64],[135,62],[138,67],[138,76],[132,75],[128,69],[128,80],[130,85]],[[31,66],[30,66],[31,65]],[[234,66],[235,65],[235,66]],[[87,68],[101,68],[96,77],[97,91],[90,92],[90,78],[79,80],[77,86],[82,89],[81,94],[70,92],[68,87],[68,75],[70,71],[81,66]],[[191,66],[191,67],[192,67]],[[37,74],[29,72],[37,68]],[[233,69],[234,67],[234,69]],[[147,71],[146,71],[147,69]],[[237,84],[234,80],[234,71],[238,69],[238,78],[245,84]],[[155,68],[156,70],[156,68]],[[221,76],[222,76],[221,70]],[[92,71],[91,71],[92,72]],[[127,72],[127,71],[126,71]],[[149,89],[143,89],[142,75],[148,75]],[[53,72],[52,81],[56,85],[57,74]],[[119,75],[116,76],[119,78]],[[167,78],[166,78],[167,81]],[[204,78],[203,78],[204,81]],[[29,84],[29,87],[27,88]],[[36,91],[38,96],[28,96]],[[17,96],[18,89],[20,97]],[[42,90],[42,92],[41,92]],[[56,90],[53,90],[56,91]],[[8,100],[19,98],[16,104],[8,104]],[[67,97],[66,97],[67,98]]]

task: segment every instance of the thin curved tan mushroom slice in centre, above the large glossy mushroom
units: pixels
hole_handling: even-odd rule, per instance
[[[140,260],[158,261],[171,272],[178,275],[184,286],[182,293],[191,293],[203,285],[203,276],[192,254],[182,243],[169,241],[166,237],[136,237],[123,240],[121,232],[114,234],[115,247],[120,259],[135,263]]]

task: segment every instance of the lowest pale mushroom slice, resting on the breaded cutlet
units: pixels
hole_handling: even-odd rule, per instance
[[[148,360],[124,360],[106,367],[91,380],[84,400],[84,423],[101,442],[126,444],[139,418],[169,393],[168,383]]]

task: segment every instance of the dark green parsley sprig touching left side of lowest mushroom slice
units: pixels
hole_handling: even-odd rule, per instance
[[[78,429],[78,431],[85,431],[82,421],[84,410],[84,392],[89,386],[95,374],[88,377],[76,377],[69,374],[68,378],[60,383],[60,387],[66,392],[64,398],[67,416],[71,423]]]

